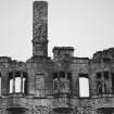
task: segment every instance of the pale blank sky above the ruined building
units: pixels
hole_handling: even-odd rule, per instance
[[[33,1],[0,0],[0,56],[26,61],[33,54]],[[72,46],[75,56],[91,58],[114,47],[114,0],[48,0],[49,55]]]

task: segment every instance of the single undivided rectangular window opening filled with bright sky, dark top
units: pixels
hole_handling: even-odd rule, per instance
[[[79,97],[89,97],[89,79],[88,74],[79,74]]]

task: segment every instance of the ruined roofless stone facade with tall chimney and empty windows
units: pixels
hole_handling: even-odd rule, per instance
[[[33,56],[25,63],[0,56],[0,114],[114,114],[114,48],[88,59],[54,47],[50,59],[48,3],[35,1],[33,11]]]

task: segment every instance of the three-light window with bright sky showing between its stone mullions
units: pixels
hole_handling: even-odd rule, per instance
[[[27,73],[11,72],[9,73],[10,93],[27,93]]]

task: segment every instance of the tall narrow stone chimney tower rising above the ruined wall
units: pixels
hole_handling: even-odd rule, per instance
[[[33,55],[48,55],[48,2],[35,1],[33,9]]]

